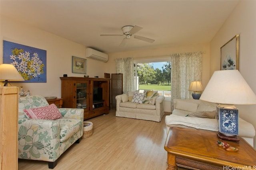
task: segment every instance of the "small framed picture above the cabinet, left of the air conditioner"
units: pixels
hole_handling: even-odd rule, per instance
[[[72,56],[72,73],[86,74],[86,59]]]

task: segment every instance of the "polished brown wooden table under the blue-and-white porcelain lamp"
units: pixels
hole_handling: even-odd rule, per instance
[[[256,170],[256,150],[244,139],[239,143],[224,141],[238,152],[228,152],[219,147],[216,132],[173,127],[169,130],[164,149],[168,153],[167,170],[176,170],[177,165],[200,170]]]

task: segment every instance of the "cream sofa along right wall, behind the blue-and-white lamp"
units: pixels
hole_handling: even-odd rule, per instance
[[[174,99],[174,110],[171,115],[165,117],[166,133],[170,127],[218,131],[217,119],[213,118],[216,105],[202,100]],[[239,136],[253,146],[255,129],[252,124],[241,118],[239,118]]]

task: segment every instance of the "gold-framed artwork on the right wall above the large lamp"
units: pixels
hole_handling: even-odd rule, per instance
[[[220,47],[220,70],[239,70],[239,34]]]

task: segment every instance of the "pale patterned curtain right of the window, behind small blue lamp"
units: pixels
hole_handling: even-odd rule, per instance
[[[173,99],[192,99],[188,91],[191,81],[202,80],[202,53],[182,53],[171,55]],[[173,108],[173,107],[172,107]]]

